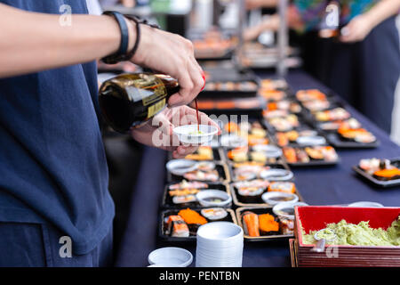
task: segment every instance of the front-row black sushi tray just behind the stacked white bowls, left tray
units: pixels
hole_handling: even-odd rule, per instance
[[[199,209],[199,208],[191,208],[191,209],[195,210],[198,213],[200,213],[200,211],[201,211],[201,209]],[[229,208],[226,208],[225,210],[228,211],[228,216],[226,216],[224,219],[222,219],[220,221],[232,222],[234,224],[237,224],[235,212]],[[168,209],[168,210],[164,210],[161,213],[160,221],[158,223],[158,237],[161,240],[169,241],[169,242],[196,242],[196,235],[190,235],[190,236],[188,236],[188,238],[176,238],[176,237],[168,236],[164,233],[164,218],[166,216],[178,215],[179,211],[180,211],[180,209]],[[207,221],[209,221],[209,220],[207,220]]]

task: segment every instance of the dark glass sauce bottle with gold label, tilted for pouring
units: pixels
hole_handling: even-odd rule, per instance
[[[163,74],[122,74],[100,86],[100,110],[108,126],[124,134],[164,110],[179,90],[178,81]]]

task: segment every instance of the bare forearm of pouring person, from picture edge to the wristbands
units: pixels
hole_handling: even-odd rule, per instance
[[[108,16],[73,15],[71,25],[62,26],[60,15],[4,4],[0,27],[0,77],[93,61],[116,53],[121,38],[116,20]]]

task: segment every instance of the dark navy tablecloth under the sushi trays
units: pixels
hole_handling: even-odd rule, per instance
[[[301,71],[292,72],[287,80],[292,89],[318,88],[324,85]],[[353,172],[360,159],[400,157],[400,147],[391,142],[388,134],[364,118],[356,110],[347,109],[380,140],[373,150],[338,151],[340,164],[335,167],[293,169],[295,183],[309,205],[334,205],[355,201],[375,201],[384,206],[400,206],[400,187],[381,189],[366,183]],[[132,208],[122,247],[116,256],[116,266],[147,266],[148,254],[160,247],[176,246],[157,240],[159,205],[164,190],[164,151],[145,148],[139,179],[132,192]],[[196,252],[196,245],[179,245]],[[287,241],[278,243],[245,243],[244,266],[290,266]]]

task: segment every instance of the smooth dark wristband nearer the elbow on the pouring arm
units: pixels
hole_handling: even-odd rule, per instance
[[[107,64],[115,64],[118,63],[119,61],[124,61],[124,57],[128,52],[128,45],[129,45],[129,28],[125,22],[124,15],[121,14],[120,12],[114,12],[114,11],[103,12],[103,15],[112,16],[114,19],[116,19],[119,28],[121,30],[121,44],[116,53],[108,55],[101,61]]]

